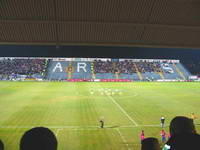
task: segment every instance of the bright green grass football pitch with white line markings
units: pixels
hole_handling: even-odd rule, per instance
[[[139,150],[142,129],[161,139],[161,116],[169,125],[194,112],[200,131],[199,108],[199,83],[0,82],[0,139],[17,150],[26,130],[45,126],[59,150]]]

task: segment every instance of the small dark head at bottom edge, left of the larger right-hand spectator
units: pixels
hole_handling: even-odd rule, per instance
[[[152,137],[144,139],[141,150],[160,150],[158,139]]]

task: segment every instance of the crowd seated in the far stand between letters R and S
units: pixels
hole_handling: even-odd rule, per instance
[[[94,61],[94,73],[124,73],[133,74],[137,72],[161,72],[161,64],[158,62],[133,62],[132,60],[124,61]]]

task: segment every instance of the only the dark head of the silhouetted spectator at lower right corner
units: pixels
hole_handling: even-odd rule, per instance
[[[177,116],[172,119],[170,123],[170,134],[189,134],[196,133],[195,126],[192,119],[184,116]]]

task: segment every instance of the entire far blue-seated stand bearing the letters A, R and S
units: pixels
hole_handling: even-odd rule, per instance
[[[190,65],[194,68],[194,65]],[[197,73],[197,72],[195,72]],[[191,73],[177,60],[1,58],[0,79],[187,80]]]

